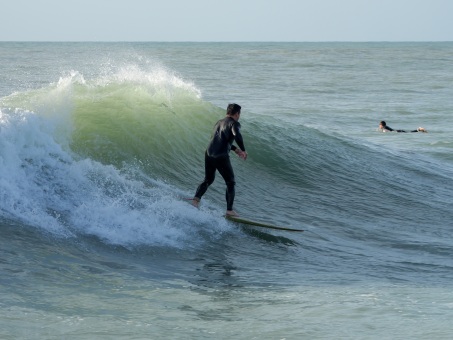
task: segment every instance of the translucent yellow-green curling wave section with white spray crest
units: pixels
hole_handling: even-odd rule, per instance
[[[212,125],[225,113],[203,101],[192,83],[166,70],[135,67],[94,80],[73,72],[0,104],[46,116],[60,144],[78,158],[118,168],[138,164],[167,179],[184,178],[199,163],[194,157],[202,157]]]

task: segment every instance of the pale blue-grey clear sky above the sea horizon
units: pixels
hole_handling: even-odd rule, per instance
[[[0,41],[453,41],[453,0],[0,0]]]

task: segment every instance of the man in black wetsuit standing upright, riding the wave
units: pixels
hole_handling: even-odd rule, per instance
[[[241,135],[241,106],[238,104],[228,104],[226,117],[219,120],[214,125],[211,140],[205,151],[205,178],[198,186],[195,196],[191,199],[193,206],[198,207],[201,197],[206,193],[208,187],[214,182],[215,172],[219,171],[222,175],[226,188],[226,202],[228,216],[238,216],[233,210],[233,202],[236,184],[234,180],[233,167],[231,166],[229,152],[233,150],[243,160],[247,159],[244,141]],[[239,146],[233,145],[233,142]]]

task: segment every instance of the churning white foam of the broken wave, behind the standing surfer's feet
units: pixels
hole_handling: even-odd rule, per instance
[[[52,119],[24,110],[0,116],[2,214],[46,231],[95,235],[120,245],[193,245],[228,228],[215,207],[197,210],[181,193],[136,169],[77,159],[54,138]],[[214,209],[214,210],[212,210]]]

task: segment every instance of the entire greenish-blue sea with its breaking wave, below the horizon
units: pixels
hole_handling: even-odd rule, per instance
[[[452,176],[451,42],[1,42],[0,338],[451,339]]]

